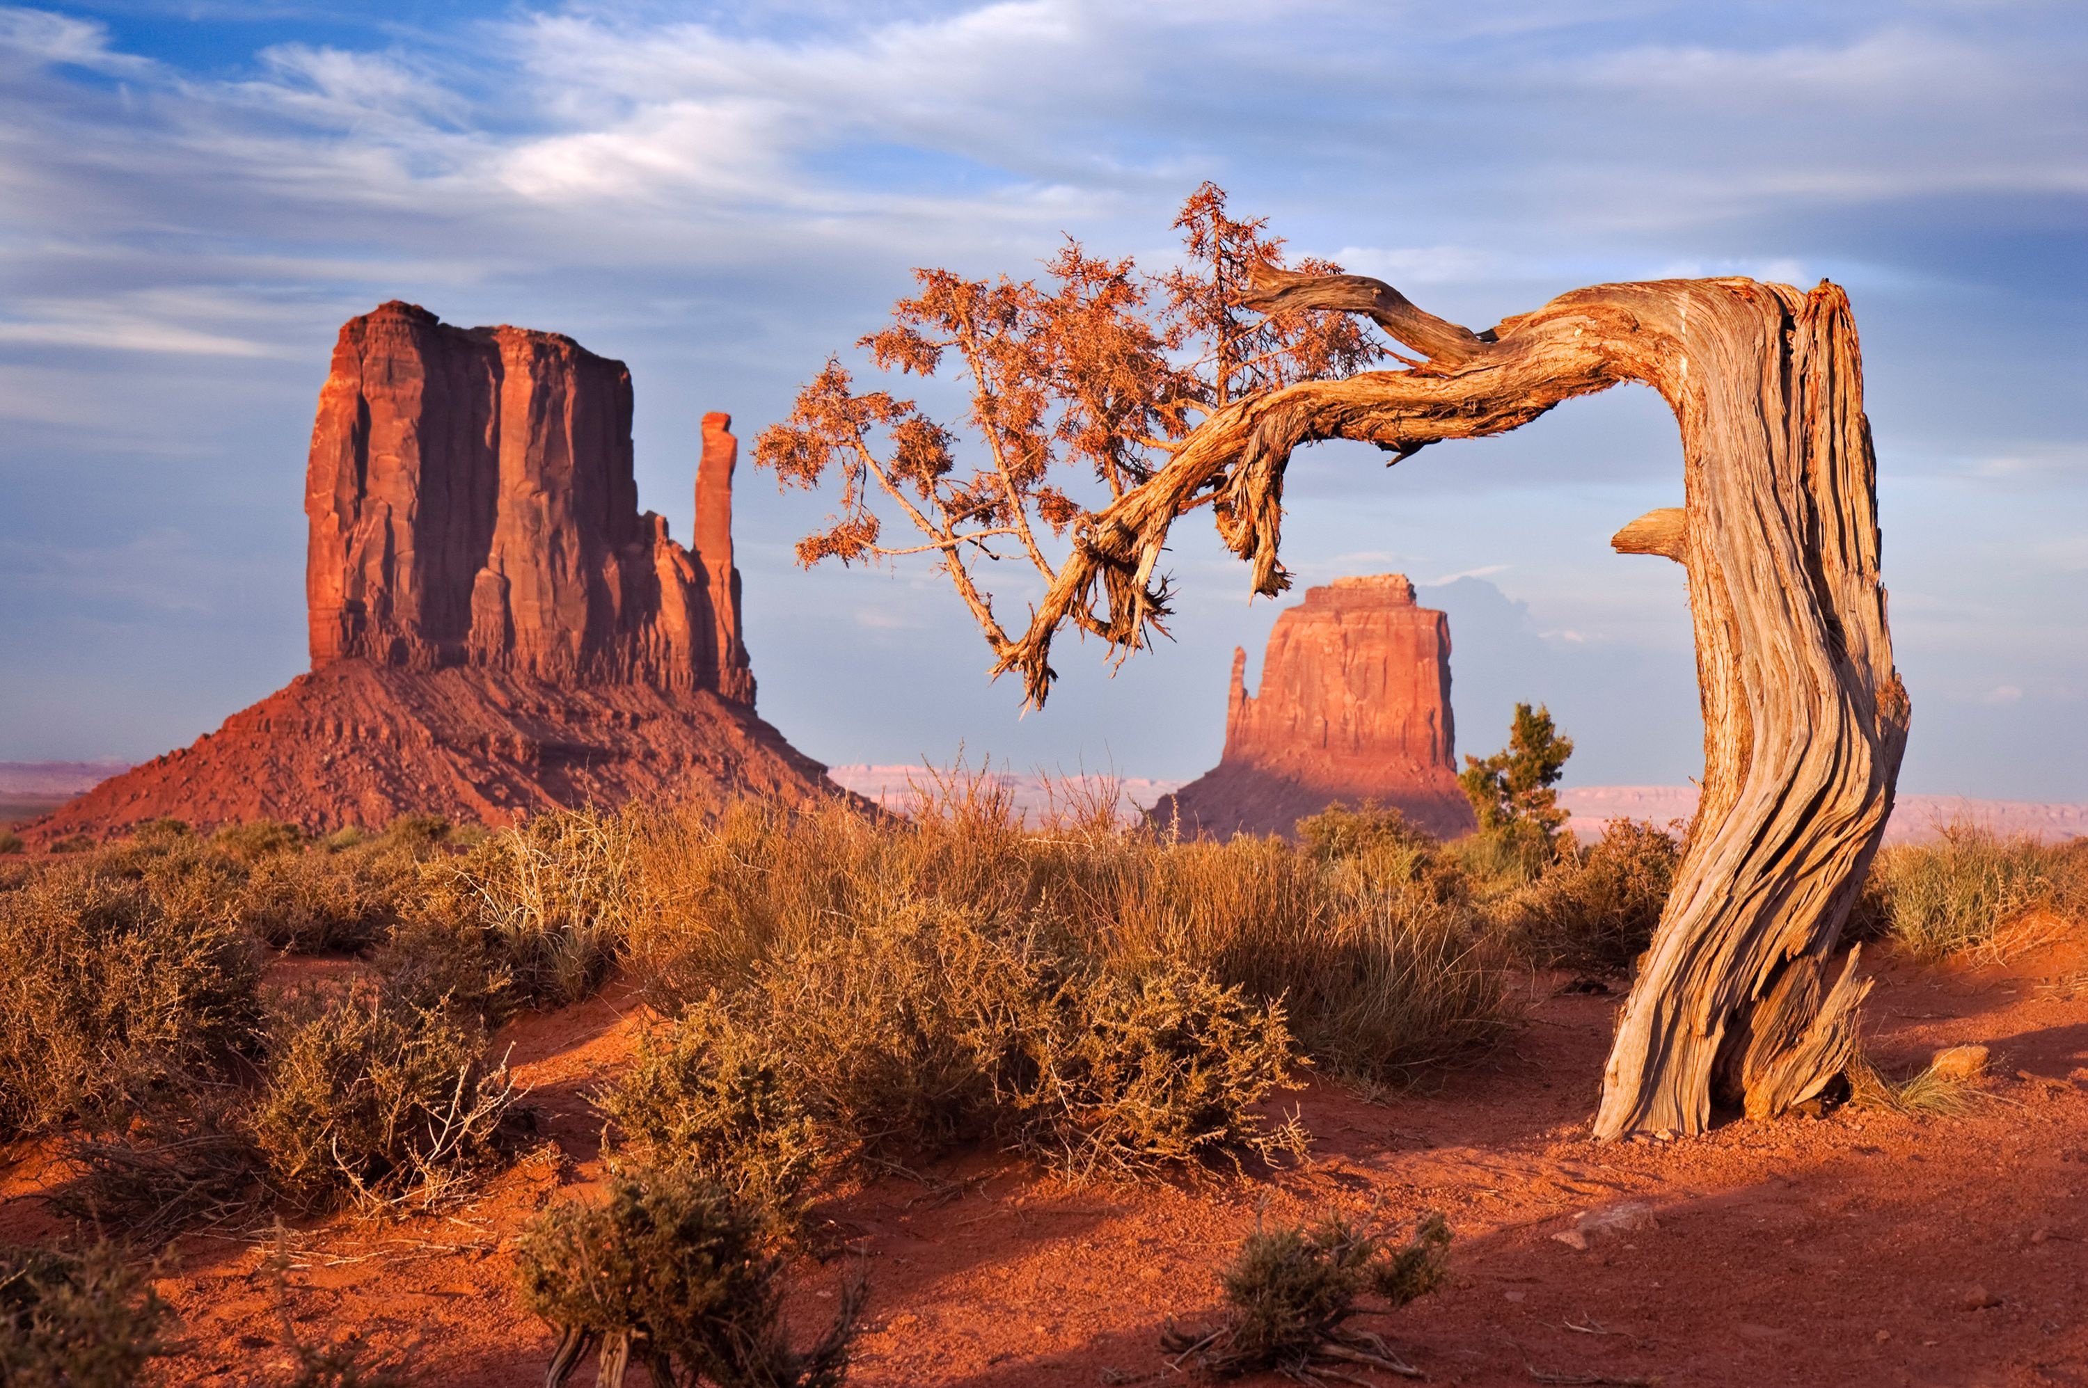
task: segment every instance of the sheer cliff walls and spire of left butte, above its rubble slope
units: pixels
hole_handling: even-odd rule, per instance
[[[683,549],[639,511],[624,363],[397,301],[349,319],[305,476],[313,668],[480,666],[752,705],[735,451],[729,417],[706,417]]]

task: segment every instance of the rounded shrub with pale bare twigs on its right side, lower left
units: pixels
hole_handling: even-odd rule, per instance
[[[432,1206],[501,1156],[505,1067],[445,1008],[370,985],[294,998],[269,1037],[253,1133],[307,1206]]]

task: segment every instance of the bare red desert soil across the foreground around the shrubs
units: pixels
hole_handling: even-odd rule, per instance
[[[1211,1315],[1215,1269],[1257,1206],[1297,1219],[1382,1200],[1441,1208],[1457,1231],[1451,1286],[1370,1321],[1434,1382],[2088,1382],[2088,950],[1883,968],[1869,1019],[1888,1069],[1954,1042],[1994,1048],[1988,1098],[1961,1119],[1842,1108],[1595,1146],[1585,1123],[1612,1006],[1545,998],[1489,1067],[1428,1096],[1366,1102],[1326,1083],[1290,1096],[1318,1144],[1307,1167],[1272,1177],[1067,1188],[981,1156],[935,1167],[933,1186],[850,1192],[821,1208],[835,1257],[798,1269],[793,1323],[821,1323],[862,1267],[856,1384],[1159,1382],[1178,1378],[1161,1325]],[[585,1094],[639,1025],[612,991],[509,1027],[501,1039],[564,1154],[443,1217],[292,1231],[301,1332],[418,1342],[413,1382],[541,1382],[551,1338],[509,1296],[509,1240],[599,1175]],[[25,1160],[0,1192],[0,1236],[48,1229],[35,1175]],[[1618,1202],[1643,1202],[1652,1223],[1587,1250],[1553,1238]],[[173,1382],[265,1382],[282,1363],[265,1261],[265,1246],[230,1238],[175,1250],[161,1282],[184,1317]]]

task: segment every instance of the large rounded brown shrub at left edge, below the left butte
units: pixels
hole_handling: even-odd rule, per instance
[[[217,1071],[253,1044],[259,979],[236,927],[92,860],[0,895],[0,1131]]]

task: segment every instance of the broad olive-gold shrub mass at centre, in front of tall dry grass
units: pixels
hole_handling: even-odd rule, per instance
[[[601,1104],[649,1160],[787,1206],[821,1154],[885,1160],[967,1138],[1075,1175],[1295,1150],[1257,1110],[1295,1060],[1278,1006],[1188,966],[1113,975],[912,908],[691,1006]]]

